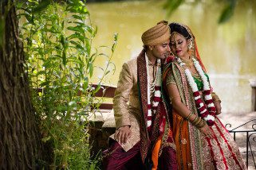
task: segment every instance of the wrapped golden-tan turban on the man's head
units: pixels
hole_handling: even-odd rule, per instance
[[[168,22],[160,21],[156,26],[145,31],[141,36],[141,40],[144,45],[156,45],[168,41],[170,36]]]

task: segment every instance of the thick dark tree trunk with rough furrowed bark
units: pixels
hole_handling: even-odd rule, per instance
[[[30,100],[14,0],[0,1],[0,167],[34,169],[40,138]]]

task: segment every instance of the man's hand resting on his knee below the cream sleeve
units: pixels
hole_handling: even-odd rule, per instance
[[[123,145],[127,142],[128,138],[130,138],[132,135],[132,131],[130,129],[130,126],[121,126],[119,129],[116,130],[115,133],[115,139],[120,143],[120,145]]]

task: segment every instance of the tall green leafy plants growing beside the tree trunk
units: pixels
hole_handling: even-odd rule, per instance
[[[53,147],[52,161],[44,164],[51,168],[97,169],[100,156],[93,160],[89,155],[88,115],[94,111],[90,109],[93,104],[102,102],[95,100],[94,94],[109,73],[117,35],[111,55],[98,54],[92,50],[96,29],[85,2],[69,0],[59,5],[30,0],[19,6],[30,87],[36,89],[33,106],[42,141]],[[107,56],[108,64],[100,68],[104,73],[93,89],[90,79],[94,61],[102,55]]]

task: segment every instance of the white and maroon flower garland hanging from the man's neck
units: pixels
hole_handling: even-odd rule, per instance
[[[156,68],[156,86],[153,87],[154,90],[151,90],[150,85],[150,75],[149,75],[149,68],[148,68],[148,56],[145,55],[146,58],[146,68],[147,68],[147,80],[148,80],[148,115],[147,115],[147,128],[148,131],[152,129],[152,111],[153,114],[156,114],[157,106],[161,101],[161,83],[162,83],[162,70],[161,70],[161,60],[158,59],[157,68]],[[151,91],[154,91],[153,101],[150,101],[150,94]]]

